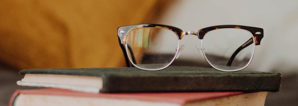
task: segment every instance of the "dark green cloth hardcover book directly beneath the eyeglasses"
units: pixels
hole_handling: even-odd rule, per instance
[[[256,71],[221,72],[213,68],[168,67],[160,71],[137,68],[28,69],[21,86],[72,89],[93,93],[198,92],[280,90],[281,74]]]

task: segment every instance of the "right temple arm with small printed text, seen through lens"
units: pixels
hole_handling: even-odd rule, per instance
[[[246,41],[244,44],[242,44],[240,47],[238,47],[238,49],[236,49],[236,51],[232,54],[232,56],[230,57],[229,59],[229,62],[228,64],[226,64],[226,66],[231,66],[234,58],[236,57],[236,55],[244,48],[246,48],[247,46],[253,44],[254,42],[252,41],[253,40],[253,37],[250,38],[248,41]]]

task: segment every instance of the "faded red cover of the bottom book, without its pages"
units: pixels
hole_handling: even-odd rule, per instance
[[[80,91],[71,91],[67,89],[30,89],[16,90],[10,98],[9,106],[13,106],[15,98],[19,94],[45,94],[75,97],[97,97],[108,99],[129,99],[150,102],[168,102],[184,105],[187,102],[195,102],[206,99],[233,96],[245,94],[245,92],[162,92],[162,93],[86,93]]]

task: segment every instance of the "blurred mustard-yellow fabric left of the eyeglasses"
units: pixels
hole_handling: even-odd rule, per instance
[[[18,69],[125,67],[117,28],[154,22],[167,2],[1,0],[0,61]]]

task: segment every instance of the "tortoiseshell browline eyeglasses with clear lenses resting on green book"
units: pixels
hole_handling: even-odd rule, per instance
[[[118,28],[119,44],[128,67],[162,70],[177,59],[184,48],[180,40],[187,35],[201,39],[196,46],[216,70],[239,71],[252,61],[255,45],[260,45],[263,29],[241,25],[218,25],[187,31],[159,24],[139,24]]]

